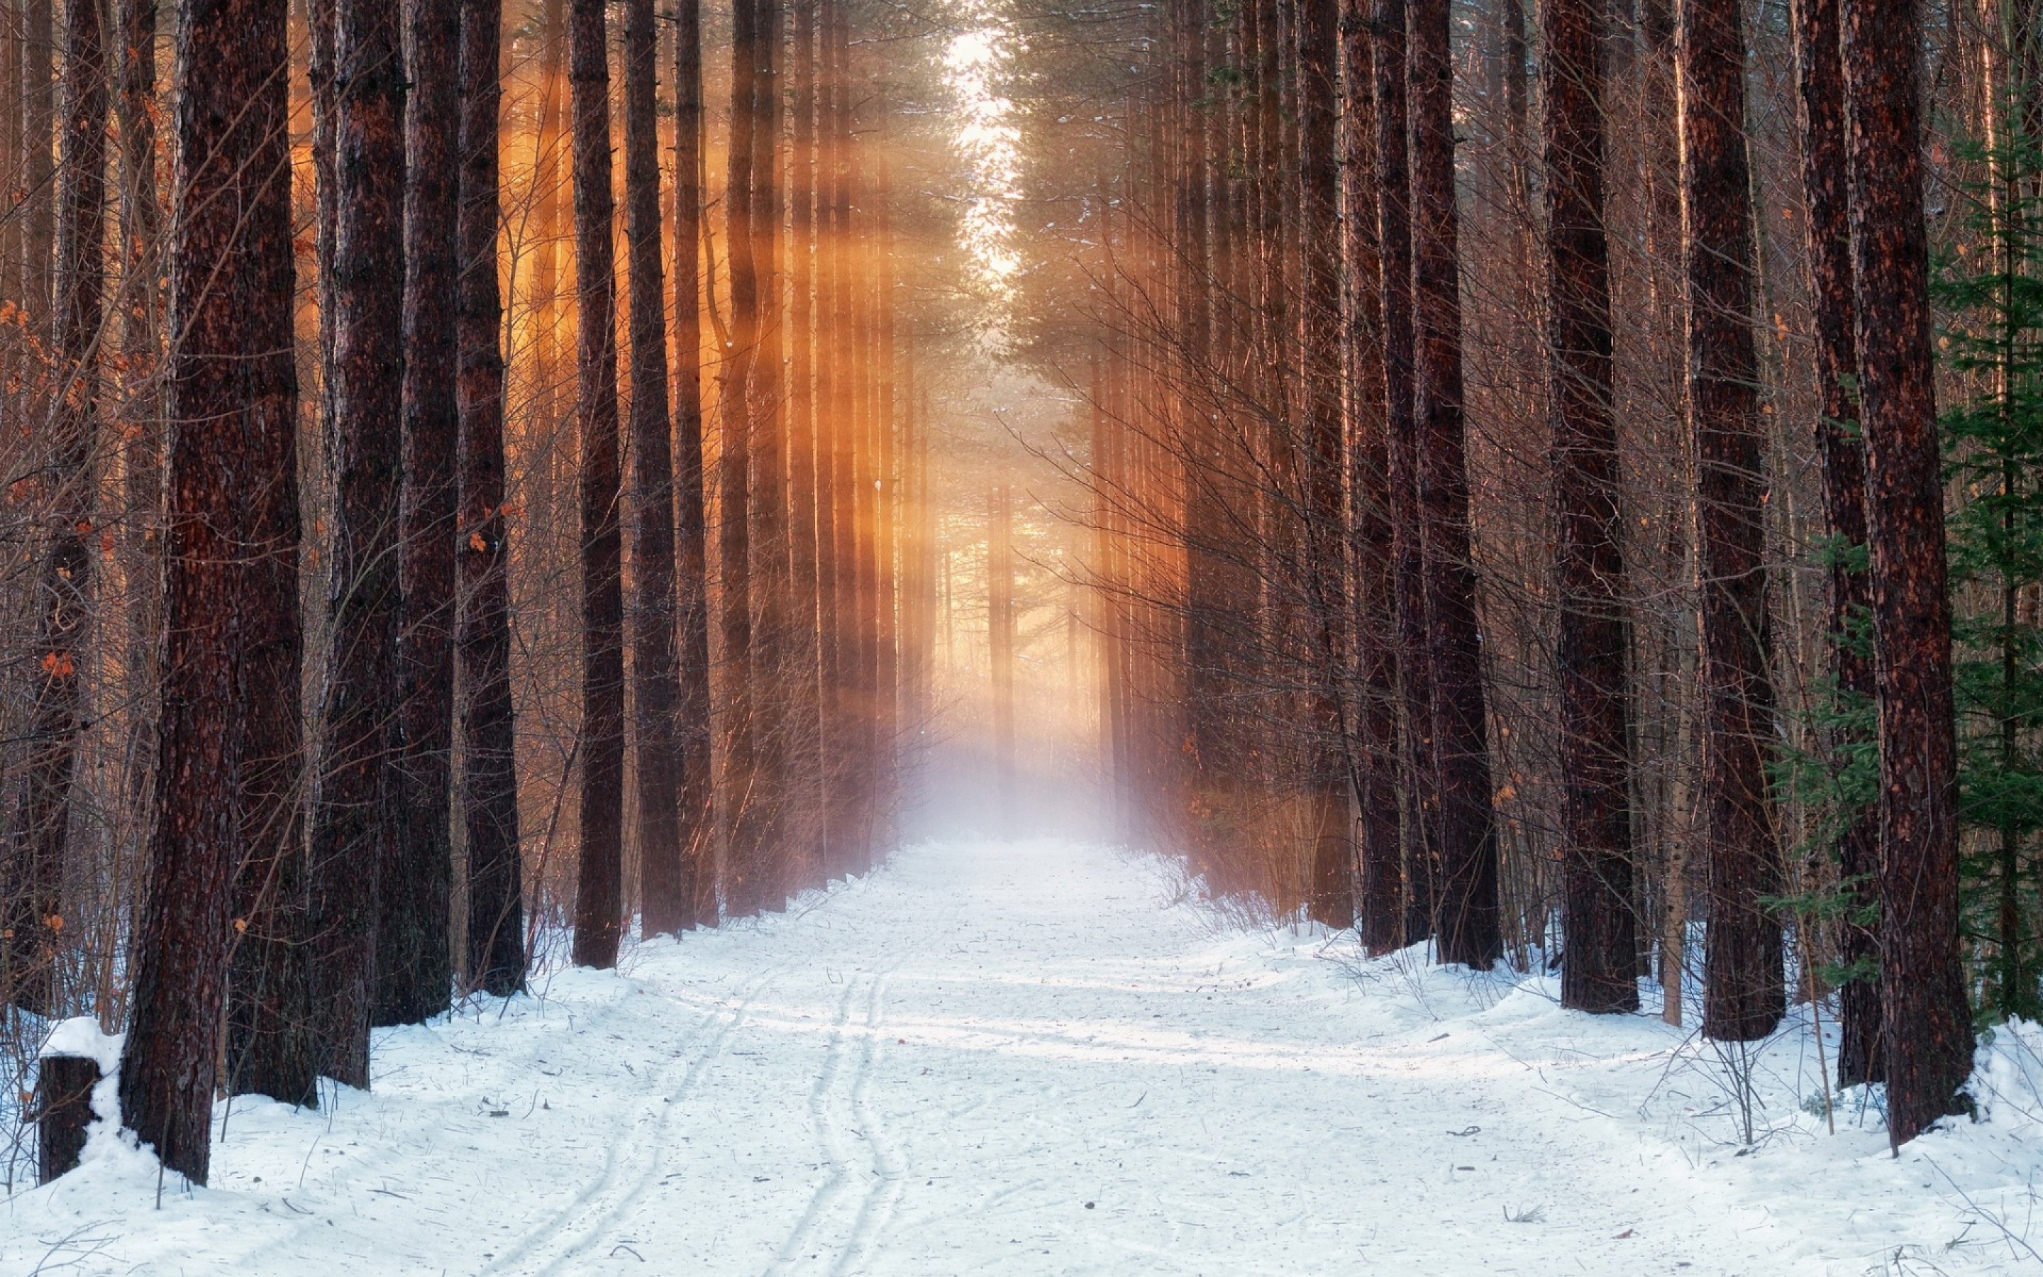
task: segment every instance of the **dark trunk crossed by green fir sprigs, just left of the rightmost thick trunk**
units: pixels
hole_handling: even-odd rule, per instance
[[[1873,662],[1853,635],[1871,613],[1873,590],[1853,566],[1865,546],[1865,443],[1859,439],[1859,405],[1851,392],[1859,376],[1853,335],[1857,304],[1851,272],[1851,165],[1845,153],[1845,63],[1839,41],[1839,0],[1796,0],[1796,72],[1802,106],[1802,192],[1808,206],[1810,311],[1816,319],[1816,452],[1822,458],[1824,531],[1831,535],[1831,678],[1845,703],[1873,701]],[[1837,705],[1845,709],[1845,705]],[[1833,758],[1863,746],[1845,727],[1826,742]],[[1880,952],[1873,928],[1853,913],[1878,905],[1880,811],[1851,813],[1837,840],[1839,877],[1853,911],[1839,919],[1839,958],[1861,962]],[[1808,952],[1804,948],[1804,952]],[[1837,991],[1837,1085],[1880,1081],[1880,981],[1853,979]]]

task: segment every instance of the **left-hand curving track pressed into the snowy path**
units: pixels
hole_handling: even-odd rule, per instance
[[[648,1095],[660,1099],[658,1107],[644,1105],[637,1120],[623,1134],[621,1140],[611,1144],[609,1156],[603,1161],[603,1175],[588,1189],[574,1195],[574,1201],[554,1212],[554,1216],[531,1228],[511,1246],[501,1259],[486,1265],[482,1273],[527,1273],[529,1277],[548,1277],[552,1273],[564,1271],[572,1259],[582,1257],[603,1234],[615,1224],[625,1212],[629,1212],[660,1179],[660,1148],[666,1146],[666,1128],[672,1122],[674,1112],[680,1101],[695,1089],[703,1071],[723,1052],[723,1042],[731,1036],[738,1026],[744,1024],[746,1015],[758,1003],[760,993],[774,979],[785,975],[793,962],[772,966],[758,977],[754,977],[744,991],[738,995],[735,1005],[723,1005],[709,1011],[695,1034],[688,1036],[688,1048],[703,1042],[701,1050],[682,1048],[670,1056],[668,1065],[660,1071],[654,1083],[648,1087]],[[707,1038],[707,1042],[705,1042]],[[676,1060],[686,1058],[686,1071],[680,1081],[672,1087]],[[654,1138],[648,1138],[648,1128]],[[629,1175],[623,1171],[629,1167]],[[554,1250],[552,1259],[543,1250]],[[539,1267],[529,1267],[537,1261]]]

